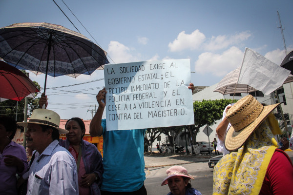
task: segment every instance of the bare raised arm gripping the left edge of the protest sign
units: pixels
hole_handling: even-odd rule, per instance
[[[101,126],[102,123],[102,117],[103,117],[103,112],[106,106],[106,89],[104,87],[104,89],[102,89],[101,91],[99,91],[98,95],[96,96],[97,101],[99,103],[99,107],[98,110],[95,114],[95,116],[93,117],[93,119],[91,120],[90,124],[89,124],[89,134],[91,137],[97,137],[97,136],[101,136],[103,133],[103,127]],[[103,101],[102,101],[103,100]]]

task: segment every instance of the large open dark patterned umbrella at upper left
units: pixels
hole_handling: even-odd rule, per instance
[[[109,63],[106,52],[91,40],[49,23],[16,23],[0,28],[0,58],[19,69],[45,73],[46,77],[90,75]]]

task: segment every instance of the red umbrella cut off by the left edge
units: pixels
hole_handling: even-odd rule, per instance
[[[40,92],[35,83],[19,69],[0,60],[0,98],[21,101]]]

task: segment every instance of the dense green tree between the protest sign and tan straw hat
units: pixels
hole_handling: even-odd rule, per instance
[[[237,100],[233,100],[236,102]],[[199,129],[205,125],[213,125],[216,120],[223,117],[225,107],[231,103],[231,99],[203,100],[193,102],[194,125],[188,126],[192,138],[192,145],[195,145]]]

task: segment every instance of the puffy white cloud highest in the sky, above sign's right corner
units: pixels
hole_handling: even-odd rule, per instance
[[[185,49],[195,50],[204,42],[206,36],[198,29],[190,35],[182,31],[173,42],[169,42],[168,47],[171,52],[178,52]]]

